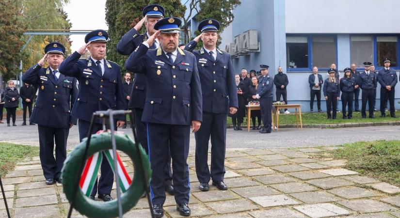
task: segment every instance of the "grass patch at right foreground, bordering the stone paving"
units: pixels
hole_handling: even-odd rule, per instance
[[[400,186],[400,140],[359,141],[330,154],[347,159],[346,169]]]

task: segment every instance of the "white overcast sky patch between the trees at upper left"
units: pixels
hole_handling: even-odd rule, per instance
[[[70,0],[64,6],[68,14],[71,30],[108,30],[106,24],[106,0]],[[85,35],[71,35],[71,51],[85,44]]]

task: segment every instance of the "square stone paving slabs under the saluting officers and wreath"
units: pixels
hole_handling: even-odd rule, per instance
[[[220,191],[198,188],[194,154],[188,158],[192,217],[211,218],[400,218],[400,188],[344,169],[346,160],[314,158],[316,152],[340,147],[236,149],[226,151],[225,183]],[[121,154],[133,174],[128,156]],[[66,217],[68,201],[61,185],[47,186],[38,157],[17,164],[3,179],[15,218]],[[115,197],[115,189],[112,196]],[[180,217],[167,194],[164,217]],[[6,217],[0,201],[0,218]],[[83,217],[78,212],[73,217]],[[150,217],[145,198],[124,218]]]

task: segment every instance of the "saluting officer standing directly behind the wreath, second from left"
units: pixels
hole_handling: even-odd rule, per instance
[[[114,62],[105,59],[108,33],[104,30],[95,30],[85,36],[85,43],[78,51],[71,54],[60,66],[60,71],[71,77],[79,79],[80,92],[72,109],[72,116],[79,119],[79,138],[88,136],[92,114],[96,110],[122,110],[125,109],[124,90],[120,67]],[[80,59],[90,52],[89,59]],[[122,127],[124,117],[116,119],[116,127]],[[92,134],[102,129],[101,120],[98,119],[93,126]],[[113,124],[115,125],[115,124]],[[106,158],[101,163],[101,176],[98,181],[98,198],[111,201],[111,188],[113,173]],[[95,199],[97,181],[90,195]]]

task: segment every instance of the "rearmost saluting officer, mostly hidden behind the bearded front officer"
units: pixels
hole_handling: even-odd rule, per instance
[[[129,55],[140,44],[145,42],[150,35],[154,34],[154,24],[162,17],[164,17],[164,8],[159,4],[150,4],[143,9],[143,19],[136,24],[134,28],[125,33],[117,45],[117,51],[122,55]],[[140,34],[138,31],[142,26],[146,27],[146,32]],[[158,48],[160,43],[156,39],[155,43],[150,47],[151,49]],[[144,109],[144,99],[146,97],[146,77],[144,74],[135,72],[135,79],[133,81],[132,90],[130,93],[130,100],[128,108],[133,108],[135,112],[135,125],[136,135],[144,150],[148,153],[147,146],[147,130],[146,125],[142,122],[142,114]],[[164,167],[167,177],[164,182],[165,191],[169,194],[174,194],[174,187],[172,185],[172,172],[171,172],[171,157],[168,164]]]

